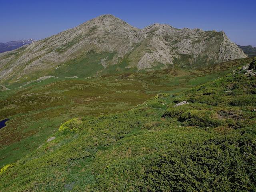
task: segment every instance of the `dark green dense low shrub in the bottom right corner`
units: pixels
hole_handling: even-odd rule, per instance
[[[177,145],[146,170],[140,191],[255,191],[254,149],[248,141]],[[246,155],[250,154],[250,155]]]

